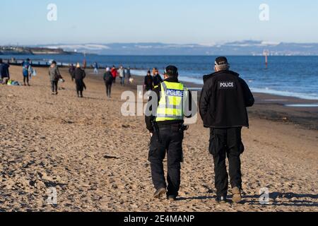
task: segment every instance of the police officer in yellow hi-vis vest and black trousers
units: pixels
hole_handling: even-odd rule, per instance
[[[178,196],[183,158],[184,117],[192,117],[192,95],[178,81],[178,69],[167,66],[165,81],[155,87],[148,102],[146,125],[151,133],[149,161],[156,192],[154,198],[167,195],[170,201]],[[167,182],[163,160],[167,155]]]

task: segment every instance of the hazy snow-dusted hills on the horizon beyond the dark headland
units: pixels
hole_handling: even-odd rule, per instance
[[[264,50],[275,56],[318,56],[318,43],[285,43],[245,40],[223,44],[47,44],[49,49],[103,55],[262,55]]]

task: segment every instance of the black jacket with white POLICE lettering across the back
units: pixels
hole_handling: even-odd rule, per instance
[[[238,73],[218,71],[204,76],[199,111],[205,127],[248,127],[247,107],[253,105],[252,92]]]

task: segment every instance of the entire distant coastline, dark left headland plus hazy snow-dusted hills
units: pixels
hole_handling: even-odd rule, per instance
[[[161,42],[35,44],[0,46],[0,54],[98,54],[100,56],[318,56],[318,43],[242,40],[213,44]]]

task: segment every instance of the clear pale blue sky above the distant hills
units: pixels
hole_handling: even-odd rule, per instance
[[[50,3],[57,21],[47,20]],[[0,44],[318,42],[317,12],[312,0],[1,0]]]

